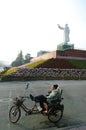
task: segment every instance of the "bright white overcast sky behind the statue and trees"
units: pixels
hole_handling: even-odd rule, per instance
[[[53,51],[63,42],[57,24],[70,28],[70,43],[86,50],[85,0],[0,0],[0,61],[40,50]]]

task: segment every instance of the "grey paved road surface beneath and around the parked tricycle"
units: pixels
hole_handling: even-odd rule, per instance
[[[46,116],[41,114],[22,117],[17,124],[9,122],[8,112],[12,106],[12,98],[16,95],[24,95],[24,88],[27,82],[4,82],[0,83],[0,130],[43,130],[74,128],[86,125],[86,81],[30,81],[26,94],[45,94],[52,84],[59,84],[63,89],[64,115],[59,124],[48,121]],[[30,102],[30,104],[29,104]],[[28,106],[33,102],[26,101]]]

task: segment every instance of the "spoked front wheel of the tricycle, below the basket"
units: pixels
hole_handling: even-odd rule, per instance
[[[9,110],[9,120],[12,123],[16,123],[18,122],[18,120],[20,119],[21,116],[21,110],[19,107],[17,106],[12,106]]]

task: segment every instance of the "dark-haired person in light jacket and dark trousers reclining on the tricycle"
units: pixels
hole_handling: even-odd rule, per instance
[[[48,104],[52,104],[53,100],[57,100],[60,98],[61,95],[61,88],[58,87],[57,84],[51,86],[49,95],[44,96],[44,95],[39,95],[36,97],[33,97],[30,94],[30,97],[32,100],[39,102],[42,110],[46,110],[45,112],[48,112]]]

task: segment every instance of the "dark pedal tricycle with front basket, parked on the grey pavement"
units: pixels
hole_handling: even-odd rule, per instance
[[[28,88],[29,84],[27,84]],[[21,109],[25,111],[26,115],[31,114],[43,114],[46,115],[49,119],[49,121],[53,123],[58,123],[63,116],[64,111],[64,105],[61,104],[63,98],[60,98],[60,100],[54,100],[52,101],[52,105],[49,105],[49,111],[48,113],[44,113],[43,111],[39,111],[38,109],[38,102],[34,101],[34,105],[32,108],[28,109],[27,106],[24,104],[24,101],[30,98],[29,96],[19,96],[13,99],[13,106],[9,110],[9,120],[12,123],[17,123],[21,117]]]

